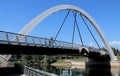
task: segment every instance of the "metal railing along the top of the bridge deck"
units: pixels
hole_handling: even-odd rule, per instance
[[[0,43],[63,49],[79,49],[80,47],[82,47],[81,45],[75,43],[69,43],[58,40],[51,41],[50,39],[47,38],[39,38],[5,31],[0,31]]]

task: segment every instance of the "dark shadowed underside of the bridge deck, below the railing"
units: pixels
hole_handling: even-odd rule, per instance
[[[22,45],[10,45],[0,44],[0,54],[26,54],[26,55],[79,55],[79,50],[76,49],[63,49],[52,47],[37,47],[37,46],[22,46]]]

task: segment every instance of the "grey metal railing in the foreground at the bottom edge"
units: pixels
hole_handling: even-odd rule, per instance
[[[39,69],[34,69],[27,66],[24,66],[24,74],[25,76],[57,76],[55,74],[41,71]]]

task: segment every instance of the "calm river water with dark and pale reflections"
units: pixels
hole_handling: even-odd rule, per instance
[[[120,68],[64,68],[53,66],[34,66],[58,76],[120,76]]]

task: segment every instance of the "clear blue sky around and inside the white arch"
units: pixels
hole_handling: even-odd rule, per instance
[[[0,0],[0,30],[18,33],[40,13],[62,4],[74,5],[89,13],[101,27],[110,45],[120,49],[120,0]],[[55,37],[66,13],[67,10],[64,10],[50,15],[39,23],[29,35],[43,38]],[[72,20],[72,13],[70,13],[58,40],[71,41],[74,24]],[[78,23],[81,22],[78,21]],[[84,28],[85,26],[80,27],[84,43],[96,46],[92,37],[88,35],[87,29]],[[102,47],[103,42],[98,37],[99,35],[96,34],[93,27],[91,30]],[[79,43],[77,31],[75,33],[75,42]]]

